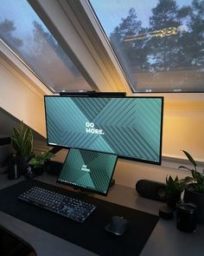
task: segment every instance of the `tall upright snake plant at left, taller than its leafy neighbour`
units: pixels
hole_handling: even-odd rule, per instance
[[[33,154],[32,130],[21,121],[18,128],[13,128],[11,145],[16,151],[16,167],[19,174],[24,174],[28,161]]]

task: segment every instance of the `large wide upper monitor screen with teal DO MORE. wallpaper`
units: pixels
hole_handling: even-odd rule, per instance
[[[163,97],[45,96],[48,145],[161,163]]]

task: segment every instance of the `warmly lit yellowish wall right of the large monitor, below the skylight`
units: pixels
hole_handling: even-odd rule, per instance
[[[204,162],[204,94],[197,100],[192,95],[186,101],[164,102],[163,155],[184,158],[181,150],[185,149]]]

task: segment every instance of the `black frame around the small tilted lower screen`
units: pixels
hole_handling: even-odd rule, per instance
[[[94,150],[86,150],[86,149],[80,149],[80,148],[70,148],[69,151],[67,152],[67,155],[66,155],[65,161],[64,161],[64,163],[63,163],[63,166],[62,166],[62,168],[61,168],[61,171],[62,171],[62,169],[63,169],[63,167],[64,167],[65,162],[67,161],[68,154],[70,153],[70,151],[71,151],[72,149],[76,149],[76,150],[79,150],[79,151],[86,151],[86,152],[97,152],[97,153],[99,153],[99,154],[109,154],[109,153],[104,153],[104,152],[99,152],[99,151],[94,151]],[[116,168],[116,165],[117,165],[117,161],[118,161],[118,155],[117,155],[117,154],[109,154],[109,155],[114,155],[114,156],[116,156],[115,164],[114,164],[114,167],[112,168],[112,176],[113,176],[114,171],[115,171],[115,168]],[[66,181],[61,181],[61,180],[59,180],[60,176],[61,176],[61,172],[60,172],[60,174],[58,175],[58,178],[57,178],[57,181],[56,181],[57,183],[61,183],[61,184],[63,184],[63,185],[67,185],[68,187],[73,187],[73,188],[80,189],[80,191],[86,191],[86,192],[90,192],[90,193],[94,193],[94,194],[100,194],[100,195],[104,195],[104,196],[107,196],[107,194],[108,194],[108,192],[109,192],[109,189],[110,189],[110,185],[111,185],[111,183],[112,183],[112,176],[111,176],[110,181],[109,181],[109,184],[108,184],[108,187],[107,187],[107,190],[106,190],[105,193],[103,193],[103,192],[101,192],[101,191],[94,190],[94,189],[92,189],[92,188],[90,188],[90,187],[82,187],[82,186],[78,186],[78,185],[76,185],[76,184],[72,184],[72,183],[69,183],[69,182],[66,182]]]

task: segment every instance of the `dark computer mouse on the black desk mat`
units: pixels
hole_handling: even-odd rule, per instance
[[[105,226],[105,230],[116,235],[123,235],[128,226],[128,222],[129,221],[122,216],[112,216],[111,223]]]

